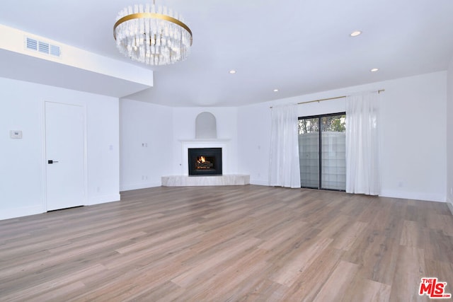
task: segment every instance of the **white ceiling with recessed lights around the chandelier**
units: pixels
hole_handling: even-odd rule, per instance
[[[120,9],[142,3],[5,0],[0,24],[129,62],[115,48],[113,24]],[[452,0],[156,4],[184,16],[193,31],[192,53],[178,64],[147,67],[155,71],[154,87],[122,97],[171,106],[238,106],[442,71],[453,56]],[[353,30],[363,33],[350,37]],[[374,67],[379,71],[370,72]],[[100,91],[118,91],[117,85],[137,91],[126,87],[136,83],[109,88],[106,82],[98,82],[105,85]]]

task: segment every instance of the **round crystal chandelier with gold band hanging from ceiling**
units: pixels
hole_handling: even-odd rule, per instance
[[[190,54],[192,31],[166,6],[134,5],[118,13],[113,37],[122,54],[149,65],[183,61]]]

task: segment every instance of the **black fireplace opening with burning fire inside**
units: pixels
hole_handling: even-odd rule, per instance
[[[222,148],[189,148],[189,175],[222,175]]]

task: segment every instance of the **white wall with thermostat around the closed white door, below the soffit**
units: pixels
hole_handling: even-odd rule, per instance
[[[86,106],[88,204],[120,199],[118,100],[0,78],[0,219],[45,211],[43,103]],[[11,139],[22,130],[23,139]]]

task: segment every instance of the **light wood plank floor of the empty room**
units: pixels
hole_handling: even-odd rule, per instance
[[[0,221],[0,301],[429,301],[453,294],[446,204],[156,187]]]

